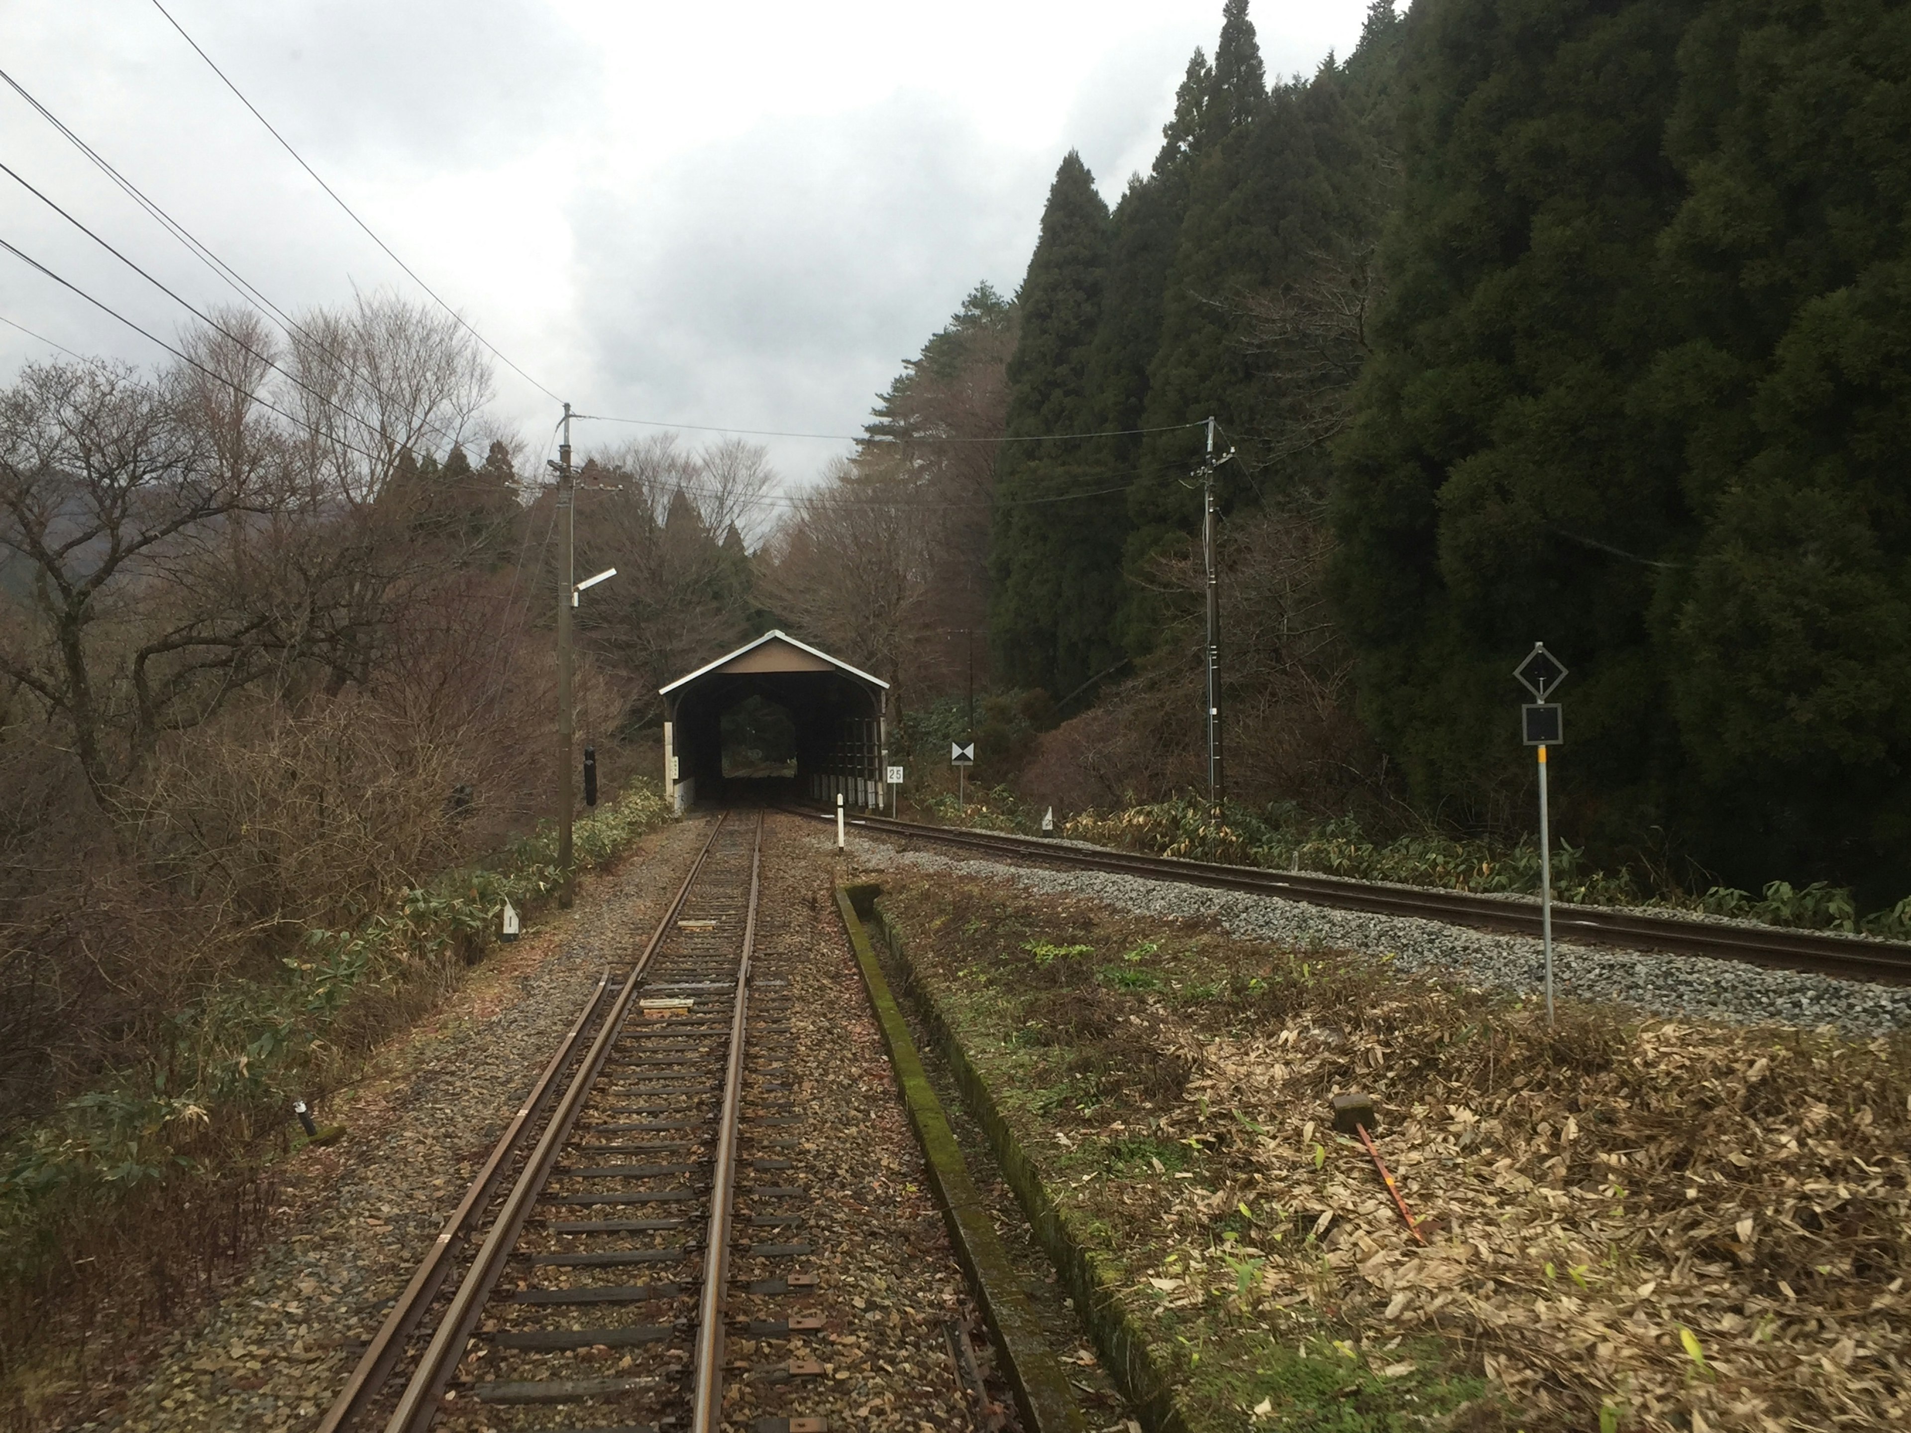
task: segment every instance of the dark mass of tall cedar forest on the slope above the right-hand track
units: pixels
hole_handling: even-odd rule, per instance
[[[1213,415],[1235,795],[1514,825],[1546,640],[1573,839],[1901,894],[1907,139],[1898,6],[1380,0],[1269,84],[1227,0],[1114,210],[1055,176],[998,671],[1192,780]]]

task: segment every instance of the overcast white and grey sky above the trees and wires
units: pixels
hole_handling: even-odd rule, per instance
[[[1145,168],[1221,0],[162,0],[440,296],[583,413],[854,432],[977,281],[1011,292],[1057,160]],[[1271,73],[1364,0],[1252,17]],[[0,0],[0,67],[273,302],[419,296],[151,0]],[[195,304],[231,292],[13,90],[0,157]],[[0,174],[0,237],[153,332],[172,300]],[[0,250],[0,317],[161,357]],[[52,353],[0,325],[0,380]],[[497,417],[556,409],[499,367]],[[579,445],[640,428],[592,424]],[[787,480],[843,443],[764,439]]]

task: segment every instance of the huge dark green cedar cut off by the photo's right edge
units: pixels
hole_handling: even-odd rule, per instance
[[[1707,854],[1911,887],[1911,11],[1714,0],[1680,48],[1651,369],[1697,541],[1661,663]],[[1663,720],[1657,718],[1657,720]],[[1865,890],[1869,887],[1869,890]]]

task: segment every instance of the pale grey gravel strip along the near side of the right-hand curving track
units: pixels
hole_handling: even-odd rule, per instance
[[[818,833],[818,845],[833,837]],[[1546,957],[1538,940],[1470,930],[1405,915],[1343,911],[1328,906],[1233,890],[1149,881],[1108,871],[1053,871],[992,860],[898,850],[883,839],[848,835],[848,854],[868,869],[917,869],[977,881],[1017,881],[1049,896],[1076,896],[1143,915],[1213,919],[1235,936],[1290,948],[1359,950],[1391,955],[1403,971],[1443,973],[1473,986],[1538,995]],[[1911,988],[1879,986],[1739,961],[1661,952],[1603,950],[1554,942],[1557,995],[1609,1001],[1647,1015],[1733,1024],[1836,1026],[1869,1037],[1911,1024]]]

